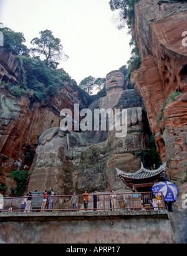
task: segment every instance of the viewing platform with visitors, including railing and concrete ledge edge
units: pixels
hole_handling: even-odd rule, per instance
[[[44,200],[44,199],[47,199]],[[85,202],[84,199],[87,202]],[[42,208],[46,201],[45,209]],[[112,202],[113,201],[113,202]],[[139,217],[168,219],[161,192],[123,194],[47,195],[4,197],[0,221],[130,219]]]

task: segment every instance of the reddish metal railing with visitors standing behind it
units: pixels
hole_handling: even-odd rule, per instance
[[[103,210],[159,210],[165,209],[161,192],[137,192],[122,194],[47,195],[32,197],[4,197],[0,212],[42,211],[103,211]]]

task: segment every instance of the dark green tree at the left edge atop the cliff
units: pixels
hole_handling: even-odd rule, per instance
[[[1,27],[0,31],[3,33],[4,47],[7,51],[15,51],[17,54],[27,54],[29,52],[29,49],[23,44],[26,39],[22,32],[14,32],[8,27]]]

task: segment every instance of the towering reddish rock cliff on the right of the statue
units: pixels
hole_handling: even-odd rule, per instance
[[[132,73],[131,81],[145,104],[158,154],[167,162],[168,177],[180,190],[174,205],[184,223],[181,197],[187,192],[187,47],[182,44],[182,33],[186,27],[187,3],[142,0],[135,6],[133,32],[141,66]]]

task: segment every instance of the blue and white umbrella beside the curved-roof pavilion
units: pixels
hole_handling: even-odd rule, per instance
[[[176,185],[168,181],[157,182],[151,189],[153,192],[162,192],[165,201],[175,201],[178,194]]]

